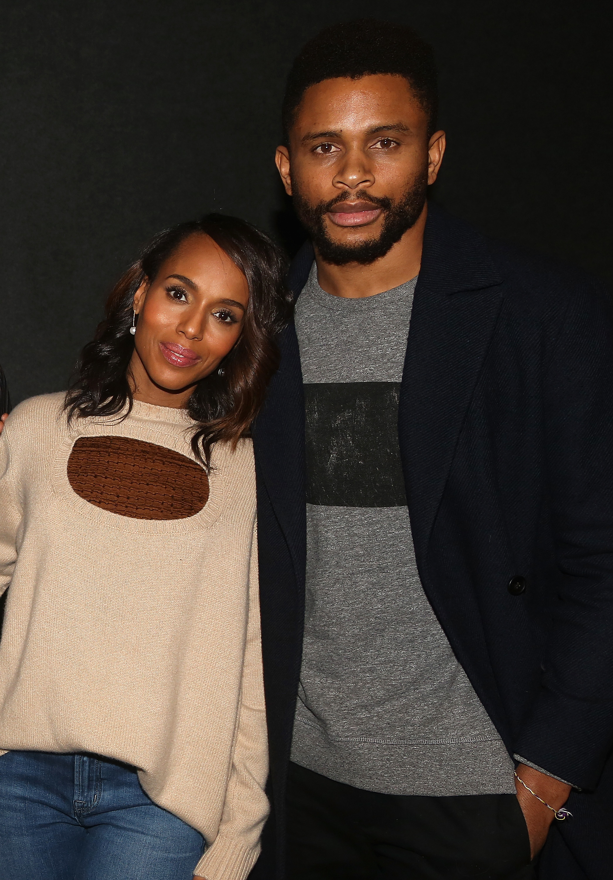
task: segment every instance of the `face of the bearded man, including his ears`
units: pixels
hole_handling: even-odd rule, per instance
[[[324,260],[370,263],[415,224],[444,150],[444,133],[428,139],[427,129],[404,77],[342,77],[307,89],[277,167]]]

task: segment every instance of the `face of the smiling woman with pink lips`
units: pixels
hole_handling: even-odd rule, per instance
[[[248,301],[246,278],[221,247],[200,232],[186,238],[135,294],[135,399],[185,407],[236,344]]]

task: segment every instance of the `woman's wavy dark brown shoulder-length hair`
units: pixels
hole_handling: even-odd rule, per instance
[[[241,270],[249,286],[243,331],[223,360],[223,375],[214,370],[201,379],[187,405],[196,422],[193,453],[210,469],[213,444],[224,441],[236,448],[258,414],[266,385],[279,365],[275,338],[287,324],[292,309],[281,250],[263,232],[237,217],[208,214],[153,238],[140,260],[128,268],[111,291],[106,317],[83,349],[64,408],[69,422],[77,417],[128,415],[133,405],[127,374],[134,351],[129,328],[135,292],[145,279],[154,281],[164,261],[194,233],[212,238]]]

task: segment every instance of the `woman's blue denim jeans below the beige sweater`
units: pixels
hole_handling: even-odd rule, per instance
[[[200,832],[96,755],[0,756],[0,880],[192,880]]]

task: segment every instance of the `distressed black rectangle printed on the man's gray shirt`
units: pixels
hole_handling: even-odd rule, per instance
[[[398,448],[398,382],[304,385],[307,502],[406,504]]]

